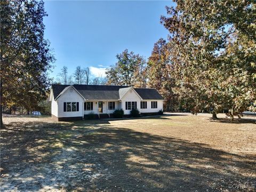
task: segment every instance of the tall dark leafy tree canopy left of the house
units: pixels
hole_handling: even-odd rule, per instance
[[[1,107],[32,110],[46,98],[54,57],[44,38],[43,1],[1,1]],[[2,124],[2,110],[1,110]]]

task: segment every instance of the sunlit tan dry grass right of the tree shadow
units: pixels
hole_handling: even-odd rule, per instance
[[[212,120],[210,114],[165,116],[111,121],[111,126],[209,145],[235,154],[256,155],[256,118],[247,116],[232,122],[224,114]]]

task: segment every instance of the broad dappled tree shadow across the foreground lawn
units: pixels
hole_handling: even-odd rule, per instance
[[[255,167],[255,156],[109,124],[19,122],[1,130],[2,190],[229,190],[255,183]]]

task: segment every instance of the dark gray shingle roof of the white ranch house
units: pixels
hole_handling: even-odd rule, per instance
[[[52,85],[54,99],[68,89],[70,85]],[[118,100],[130,87],[118,85],[73,85],[75,89],[88,100]],[[163,97],[155,89],[134,88],[142,99],[159,99]],[[121,97],[122,96],[122,97]]]

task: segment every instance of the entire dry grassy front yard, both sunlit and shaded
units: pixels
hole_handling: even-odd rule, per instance
[[[69,123],[50,117],[3,120],[1,191],[256,188],[255,116],[234,122],[213,121],[209,114]]]

